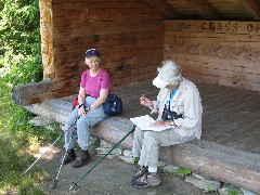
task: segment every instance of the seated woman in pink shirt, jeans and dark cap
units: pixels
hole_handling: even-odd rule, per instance
[[[75,126],[81,152],[77,158],[74,150],[76,133],[73,136],[75,127],[72,126],[65,132],[64,147],[68,151],[64,164],[73,161],[72,167],[74,168],[82,167],[90,161],[88,151],[90,146],[90,130],[94,125],[107,117],[104,114],[103,103],[112,89],[112,81],[108,73],[100,66],[100,52],[96,49],[89,49],[86,52],[86,64],[89,66],[89,69],[81,76],[78,93],[79,105],[69,115],[65,123],[65,129],[67,129],[78,118]]]

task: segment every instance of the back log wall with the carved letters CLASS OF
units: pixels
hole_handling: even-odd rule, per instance
[[[260,91],[260,23],[165,21],[165,58],[186,77]]]

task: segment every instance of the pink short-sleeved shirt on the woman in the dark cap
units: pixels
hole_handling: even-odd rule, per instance
[[[95,77],[91,77],[90,69],[87,69],[81,76],[80,87],[84,88],[87,95],[99,98],[101,89],[110,90],[112,86],[109,75],[105,69],[101,69]]]

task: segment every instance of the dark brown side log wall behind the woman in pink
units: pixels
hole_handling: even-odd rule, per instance
[[[44,78],[78,79],[98,48],[115,84],[147,79],[162,60],[162,18],[146,1],[41,0]],[[48,54],[48,55],[44,55]]]

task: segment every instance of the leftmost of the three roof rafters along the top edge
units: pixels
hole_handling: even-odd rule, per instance
[[[168,2],[165,0],[146,0],[155,6],[165,18],[180,18],[181,14],[176,11]]]

